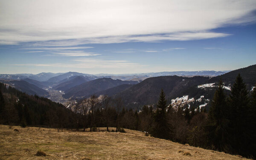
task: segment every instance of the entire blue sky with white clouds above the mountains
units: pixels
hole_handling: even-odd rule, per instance
[[[0,0],[0,74],[256,64],[256,0]]]

